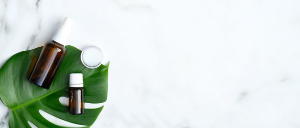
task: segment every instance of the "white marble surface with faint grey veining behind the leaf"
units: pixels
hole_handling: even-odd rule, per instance
[[[110,60],[91,128],[299,128],[299,0],[0,0],[0,65],[50,40]],[[0,104],[0,128],[8,128]]]

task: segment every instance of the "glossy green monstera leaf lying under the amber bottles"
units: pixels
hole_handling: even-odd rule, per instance
[[[46,90],[28,81],[28,76],[42,47],[22,51],[9,58],[0,69],[0,99],[11,109],[10,128],[66,128],[46,120],[41,111],[72,124],[89,128],[103,107],[85,109],[83,115],[69,115],[68,107],[59,102],[60,97],[68,97],[70,73],[82,73],[84,82],[84,102],[103,103],[107,98],[108,65],[88,69],[80,62],[81,51],[66,46],[63,59],[51,87]]]

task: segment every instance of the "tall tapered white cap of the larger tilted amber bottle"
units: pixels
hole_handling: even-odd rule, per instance
[[[63,23],[61,24],[60,28],[56,31],[52,40],[62,45],[65,45],[67,38],[71,32],[73,22],[73,19],[65,17]]]

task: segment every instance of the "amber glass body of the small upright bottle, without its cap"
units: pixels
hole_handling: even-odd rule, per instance
[[[69,88],[69,114],[84,113],[83,88]]]

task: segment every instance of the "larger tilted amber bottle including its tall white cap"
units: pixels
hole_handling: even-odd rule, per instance
[[[62,25],[53,36],[52,41],[44,44],[29,77],[31,83],[44,89],[49,89],[59,65],[65,56],[64,45],[69,36],[72,23],[72,19],[65,17]]]

